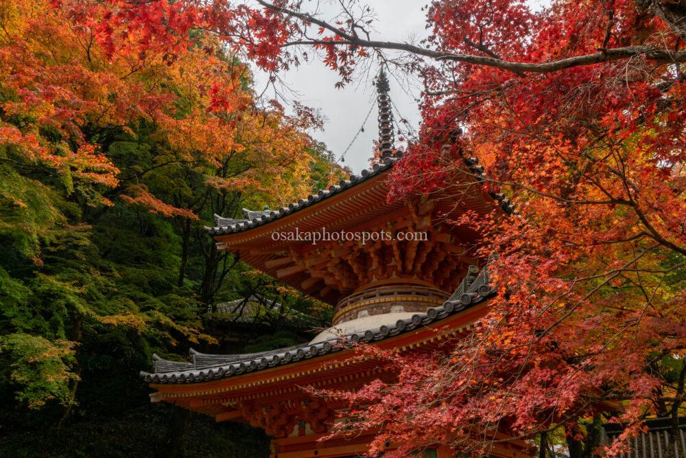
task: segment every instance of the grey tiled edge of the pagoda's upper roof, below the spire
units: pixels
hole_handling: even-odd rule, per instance
[[[376,163],[370,169],[362,170],[359,175],[352,174],[350,179],[341,180],[338,185],[329,186],[328,190],[320,190],[317,194],[309,194],[307,198],[301,198],[298,202],[289,203],[285,207],[281,207],[278,210],[264,209],[261,211],[252,211],[248,209],[243,209],[243,214],[245,219],[233,219],[233,218],[222,218],[222,216],[215,215],[215,227],[207,227],[207,231],[213,236],[220,236],[226,233],[234,233],[247,231],[254,227],[263,225],[267,222],[282,218],[289,214],[295,213],[305,207],[309,207],[320,201],[324,201],[327,198],[339,194],[344,190],[348,190],[353,186],[357,186],[360,183],[371,179],[393,167],[395,161],[402,157],[402,152],[397,152],[395,157],[387,157],[383,159],[383,163]]]

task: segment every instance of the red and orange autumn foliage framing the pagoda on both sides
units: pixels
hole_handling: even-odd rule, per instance
[[[469,185],[504,194],[514,212],[453,221],[483,234],[467,247],[475,255],[499,255],[491,266],[499,293],[486,319],[448,356],[362,350],[397,371],[398,381],[329,393],[357,414],[337,433],[379,428],[371,452],[393,440],[406,456],[436,443],[487,453],[506,429],[541,447],[558,435],[572,456],[591,456],[604,447],[605,422],[625,424],[628,439],[646,417],[683,415],[683,1],[554,0],[532,9],[519,0],[434,0],[429,36],[416,44],[373,40],[370,10],[341,5],[327,18],[300,1],[56,1],[73,29],[47,21],[36,30],[53,27],[43,34],[82,49],[97,43],[102,52],[86,55],[92,65],[76,65],[51,50],[56,71],[37,60],[32,48],[40,43],[3,48],[0,71],[12,75],[16,92],[3,117],[25,116],[36,127],[0,124],[1,141],[79,186],[113,187],[117,169],[83,121],[117,125],[137,111],[167,126],[172,144],[192,142],[203,152],[193,160],[220,165],[209,148],[228,141],[219,129],[253,136],[259,129],[249,115],[214,115],[250,103],[239,90],[244,67],[217,59],[216,47],[268,71],[319,52],[343,83],[364,62],[388,59],[384,65],[416,74],[425,88],[421,132],[394,171],[389,198],[457,195],[465,184],[453,180],[456,170],[475,158],[485,174],[474,173]],[[211,33],[188,51],[196,30]],[[164,78],[125,82],[150,65],[166,68]],[[187,116],[172,114],[184,107],[174,106],[165,81],[198,101]],[[25,89],[32,84],[41,91]],[[290,133],[274,135],[294,145]],[[132,204],[193,218],[191,208],[158,205],[141,185],[128,189]],[[622,450],[620,440],[604,453]]]

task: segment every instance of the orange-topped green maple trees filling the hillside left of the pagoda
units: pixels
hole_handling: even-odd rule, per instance
[[[0,1],[0,454],[15,427],[135,411],[152,352],[216,345],[210,307],[273,285],[203,227],[342,173],[314,113],[260,100],[217,37],[187,30],[172,56],[107,14]]]

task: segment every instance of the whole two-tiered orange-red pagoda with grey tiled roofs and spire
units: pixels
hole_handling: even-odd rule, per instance
[[[305,387],[354,390],[377,378],[390,381],[394,374],[360,358],[351,343],[401,352],[447,350],[447,341],[469,333],[486,314],[493,294],[486,260],[471,255],[479,234],[449,221],[465,211],[485,216],[494,207],[511,207],[475,180],[483,173],[475,159],[464,160],[456,172],[464,185],[449,195],[387,201],[390,172],[402,155],[394,146],[388,86],[381,71],[379,161],[372,168],[279,209],[244,209],[241,219],[215,216],[215,227],[208,228],[220,250],[335,307],[331,328],[308,343],[268,352],[191,350],[189,362],[154,356],[154,371],[141,372],[154,389],[153,402],[263,428],[273,437],[272,458],[354,457],[367,450],[375,431],[322,440],[341,421],[344,406],[311,396]],[[500,435],[507,439],[506,432]],[[527,450],[511,439],[497,442],[490,453],[529,457]],[[439,447],[424,456],[454,455]]]

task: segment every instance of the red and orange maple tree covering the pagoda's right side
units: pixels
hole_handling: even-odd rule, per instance
[[[367,350],[398,381],[336,393],[356,419],[339,432],[379,428],[370,453],[392,439],[398,456],[436,443],[487,453],[502,426],[540,437],[541,457],[560,429],[571,456],[591,456],[599,425],[622,421],[602,452],[615,455],[651,415],[671,416],[678,437],[683,2],[553,1],[536,12],[521,1],[433,1],[421,45],[370,39],[368,10],[355,3],[335,22],[300,3],[259,3],[296,30],[293,45],[323,49],[344,81],[362,49],[410,54],[424,122],[390,198],[459,196],[464,183],[451,179],[467,163],[473,185],[517,209],[455,221],[482,233],[475,253],[499,254],[499,294],[474,334],[446,358]]]

